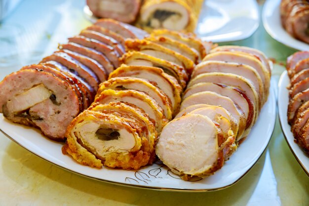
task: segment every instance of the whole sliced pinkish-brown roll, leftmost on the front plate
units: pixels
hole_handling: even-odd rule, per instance
[[[98,20],[39,64],[5,77],[0,82],[0,113],[64,141],[67,126],[90,106],[99,84],[119,66],[125,39],[146,34],[115,20]]]

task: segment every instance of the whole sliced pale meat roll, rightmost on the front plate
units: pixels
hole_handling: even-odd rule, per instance
[[[213,48],[193,69],[180,112],[161,131],[158,158],[184,180],[220,169],[267,101],[271,67],[256,49]]]

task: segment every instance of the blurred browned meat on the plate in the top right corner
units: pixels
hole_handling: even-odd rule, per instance
[[[308,0],[282,0],[280,15],[282,26],[291,36],[309,43]]]

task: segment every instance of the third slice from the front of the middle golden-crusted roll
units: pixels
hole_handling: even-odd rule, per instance
[[[110,102],[128,102],[134,104],[149,115],[154,121],[157,131],[161,131],[162,127],[167,123],[164,112],[158,103],[152,97],[141,91],[132,89],[116,91],[107,89],[102,91],[101,94],[95,98],[95,102],[100,102],[102,104],[108,104]]]

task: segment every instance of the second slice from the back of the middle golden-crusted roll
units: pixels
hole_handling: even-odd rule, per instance
[[[160,44],[166,48],[172,49],[173,51],[176,51],[189,59],[191,59],[195,64],[199,63],[198,60],[198,53],[195,49],[192,49],[187,44],[184,44],[180,41],[173,40],[168,37],[148,37],[146,40],[153,41],[154,43]]]

